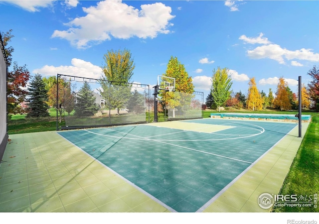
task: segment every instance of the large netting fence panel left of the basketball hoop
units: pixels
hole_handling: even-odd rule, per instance
[[[150,87],[57,75],[57,129],[150,122]]]

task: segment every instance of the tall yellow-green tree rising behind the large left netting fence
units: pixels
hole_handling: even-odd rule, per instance
[[[131,96],[131,78],[135,68],[132,55],[129,50],[108,51],[104,55],[105,65],[102,67],[105,77],[100,81],[101,96],[105,99],[105,105],[109,109],[119,110],[124,107]]]

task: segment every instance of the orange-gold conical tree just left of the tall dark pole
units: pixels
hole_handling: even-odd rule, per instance
[[[292,108],[287,87],[288,83],[285,81],[284,77],[279,78],[274,106],[281,111],[290,110]]]

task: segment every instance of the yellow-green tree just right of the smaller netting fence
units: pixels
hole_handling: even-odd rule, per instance
[[[225,105],[230,98],[232,84],[227,68],[220,69],[218,67],[217,71],[213,70],[211,94],[219,111],[220,107]]]

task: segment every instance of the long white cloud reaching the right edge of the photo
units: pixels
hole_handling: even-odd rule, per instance
[[[278,61],[280,64],[285,64],[284,57],[288,60],[298,59],[307,61],[318,61],[319,54],[311,51],[312,49],[302,48],[301,50],[287,50],[278,44],[269,44],[256,47],[253,50],[248,50],[247,55],[253,59],[270,58]]]

